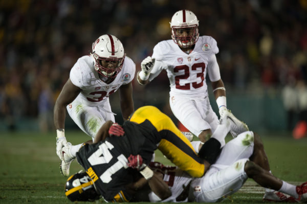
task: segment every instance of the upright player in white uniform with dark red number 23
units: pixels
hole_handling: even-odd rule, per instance
[[[199,36],[199,21],[189,10],[176,12],[170,27],[172,40],[161,41],[153,48],[152,56],[142,61],[137,79],[144,85],[166,70],[170,82],[169,103],[174,116],[205,142],[218,123],[208,98],[207,73],[220,117],[229,113],[215,57],[218,47],[214,38]]]

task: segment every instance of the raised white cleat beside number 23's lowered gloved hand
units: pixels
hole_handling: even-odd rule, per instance
[[[248,126],[244,122],[237,119],[230,110],[225,111],[225,116],[222,120],[225,120],[225,118],[230,123],[230,133],[233,138],[237,137],[237,135],[242,132],[249,131]]]

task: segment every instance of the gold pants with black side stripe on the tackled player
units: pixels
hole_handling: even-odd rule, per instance
[[[176,166],[193,177],[204,175],[205,165],[195,153],[190,141],[181,133],[172,120],[154,106],[138,108],[129,121],[138,124],[148,120],[162,135],[158,149]]]

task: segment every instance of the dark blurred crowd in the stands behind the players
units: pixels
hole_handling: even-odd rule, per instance
[[[20,118],[38,118],[42,131],[52,129],[71,67],[100,35],[117,36],[139,70],[155,44],[170,39],[169,21],[181,9],[198,16],[200,35],[216,39],[227,88],[307,92],[307,0],[0,1],[1,123],[13,130]],[[169,89],[166,76],[156,81]],[[144,102],[143,87],[134,88]]]

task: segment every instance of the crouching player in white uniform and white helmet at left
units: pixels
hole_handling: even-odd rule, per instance
[[[126,56],[120,40],[114,35],[102,35],[93,43],[92,50],[93,53],[79,58],[72,67],[54,106],[56,153],[61,159],[60,169],[64,176],[69,175],[70,164],[75,158],[70,151],[81,146],[72,145],[65,138],[66,109],[92,140],[105,121],[115,122],[109,95],[119,90],[124,120],[134,111],[131,81],[136,67]]]

